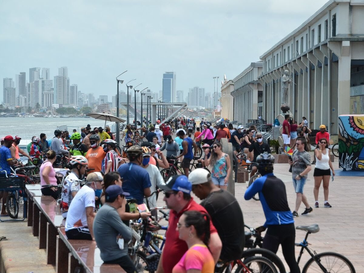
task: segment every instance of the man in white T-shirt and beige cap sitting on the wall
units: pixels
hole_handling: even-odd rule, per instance
[[[94,240],[95,190],[101,189],[103,177],[94,172],[87,175],[86,184],[76,193],[68,207],[66,235],[68,239]]]

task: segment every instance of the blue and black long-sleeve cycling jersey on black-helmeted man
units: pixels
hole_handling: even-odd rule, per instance
[[[287,202],[286,187],[281,179],[275,177],[273,173],[256,179],[245,191],[244,198],[249,200],[257,193],[266,219],[265,227],[294,223]]]

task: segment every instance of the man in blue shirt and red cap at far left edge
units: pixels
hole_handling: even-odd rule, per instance
[[[4,137],[4,143],[0,147],[0,176],[5,177],[5,171],[6,174],[9,176],[11,173],[10,166],[18,163],[16,159],[13,159],[10,152],[10,147],[13,143],[14,139],[11,135],[7,135]],[[5,204],[6,204],[6,198],[8,197],[7,191],[0,191],[0,200],[3,199],[3,207],[1,209],[1,216],[7,215],[5,212]]]

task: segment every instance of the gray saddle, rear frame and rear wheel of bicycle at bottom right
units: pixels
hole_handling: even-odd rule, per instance
[[[301,247],[300,254],[297,259],[297,264],[301,260],[302,253],[304,250],[310,254],[311,258],[306,262],[302,269],[302,273],[306,272],[351,272],[355,273],[355,268],[353,264],[346,258],[345,256],[335,253],[335,252],[322,252],[316,253],[313,250],[313,253],[308,248],[307,237],[308,234],[317,233],[320,231],[320,227],[317,224],[313,224],[310,226],[297,226],[296,229],[306,231],[306,236],[302,242],[296,243],[295,245]]]

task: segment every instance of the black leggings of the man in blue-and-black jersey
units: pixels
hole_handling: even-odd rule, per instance
[[[277,253],[278,246],[282,246],[282,252],[291,273],[300,273],[300,268],[294,255],[294,239],[296,230],[294,224],[269,225],[264,236],[263,248]]]

